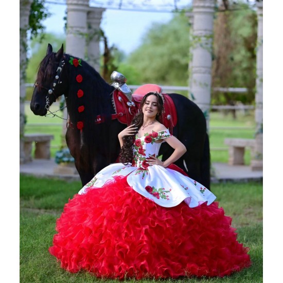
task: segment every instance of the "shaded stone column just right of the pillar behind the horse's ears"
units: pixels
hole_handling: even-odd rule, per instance
[[[93,66],[97,72],[100,70],[100,23],[104,8],[90,8],[87,13],[88,39],[86,42],[87,63]]]

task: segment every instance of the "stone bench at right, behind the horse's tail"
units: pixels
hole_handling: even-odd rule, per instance
[[[253,154],[255,139],[250,138],[225,138],[224,144],[229,146],[229,165],[244,165],[245,148],[251,148]]]

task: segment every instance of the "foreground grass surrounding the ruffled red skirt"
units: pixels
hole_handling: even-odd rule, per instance
[[[21,282],[119,282],[100,280],[89,273],[71,274],[48,253],[56,219],[63,206],[81,188],[80,182],[20,175],[20,281]],[[250,247],[253,265],[224,278],[190,278],[189,282],[263,281],[262,182],[212,184],[211,190],[237,228],[238,241]],[[136,280],[127,280],[136,282]],[[188,279],[140,280],[139,282],[187,282]]]

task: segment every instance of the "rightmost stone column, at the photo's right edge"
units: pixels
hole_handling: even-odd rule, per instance
[[[256,52],[256,134],[251,168],[263,170],[263,2],[257,2],[257,52]]]

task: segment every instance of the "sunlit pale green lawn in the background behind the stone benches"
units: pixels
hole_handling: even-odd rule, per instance
[[[51,111],[57,111],[59,109],[58,104],[51,105]],[[34,115],[29,104],[25,105],[25,114],[27,116],[27,124],[25,127],[26,133],[46,133],[53,134],[55,139],[51,140],[51,157],[55,156],[57,150],[62,145],[62,132],[66,129],[66,120],[58,117],[40,117]],[[61,111],[56,112],[60,117],[63,117]],[[49,125],[49,124],[54,125]],[[43,125],[31,125],[31,124],[45,124]],[[48,124],[48,125],[47,125]],[[217,129],[216,127],[234,127],[234,129]],[[245,127],[251,129],[239,129],[236,127]],[[224,145],[225,138],[254,138],[255,133],[255,118],[254,112],[249,111],[247,114],[237,112],[237,119],[233,119],[231,114],[225,115],[224,112],[211,112],[209,121],[209,141],[210,141],[210,155],[211,162],[228,162],[228,146]],[[63,137],[64,139],[64,137]],[[250,150],[247,149],[244,155],[244,161],[246,165],[250,164]]]

